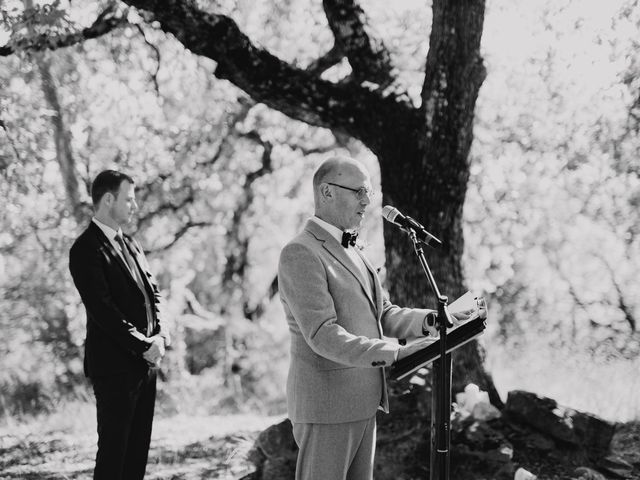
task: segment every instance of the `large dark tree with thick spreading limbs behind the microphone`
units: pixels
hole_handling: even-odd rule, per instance
[[[484,1],[434,2],[424,81],[420,98],[413,100],[394,73],[389,50],[372,34],[357,2],[323,2],[333,45],[327,43],[325,55],[306,68],[256,46],[213,5],[128,3],[193,53],[215,60],[215,75],[230,80],[255,101],[361,140],[379,159],[384,201],[423,219],[444,239],[443,251],[430,258],[442,290],[453,297],[464,291],[461,218],[473,109],[485,76],[479,54]],[[98,16],[94,30],[111,11],[109,5]],[[68,36],[48,42],[31,38],[33,48],[70,42]],[[81,38],[75,36],[76,41]],[[337,81],[323,78],[340,62],[348,63],[348,73]],[[428,303],[422,272],[406,239],[391,230],[385,240],[393,298],[403,304]],[[459,380],[476,381],[500,403],[481,366],[477,345],[464,353],[456,362],[461,366],[457,371],[465,372]]]

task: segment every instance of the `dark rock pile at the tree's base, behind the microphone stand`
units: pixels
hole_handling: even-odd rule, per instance
[[[374,477],[429,478],[430,395],[424,389],[410,389],[392,396],[390,408],[390,415],[378,415]],[[479,420],[469,412],[454,412],[451,478],[512,480],[516,473],[522,478],[535,478],[518,468],[528,466],[534,466],[541,478],[560,475],[556,478],[582,480],[601,480],[592,468],[608,478],[629,478],[632,471],[627,462],[607,456],[613,425],[594,415],[560,407],[552,399],[510,392],[502,415],[488,417]],[[270,426],[259,434],[249,452],[256,472],[247,480],[293,479],[297,453],[291,422]],[[577,466],[583,470],[575,470]]]

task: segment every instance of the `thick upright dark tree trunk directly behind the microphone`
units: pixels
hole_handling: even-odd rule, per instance
[[[476,99],[486,72],[480,57],[483,1],[434,2],[427,75],[419,129],[400,124],[379,146],[384,203],[428,226],[443,242],[425,249],[439,290],[450,301],[466,291],[462,269],[462,209],[469,180]],[[459,32],[464,31],[461,35]],[[388,287],[400,304],[430,305],[436,299],[413,252],[411,241],[385,228]],[[454,354],[453,389],[470,382],[502,402],[483,367],[477,342]]]

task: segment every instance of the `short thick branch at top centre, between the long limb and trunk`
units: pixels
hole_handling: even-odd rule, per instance
[[[323,0],[336,45],[351,64],[358,83],[368,80],[385,87],[393,82],[393,65],[382,40],[371,35],[364,11],[354,0]]]

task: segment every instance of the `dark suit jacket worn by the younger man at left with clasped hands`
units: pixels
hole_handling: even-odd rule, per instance
[[[131,237],[125,243],[136,259],[150,301],[153,328],[147,331],[145,299],[122,257],[93,221],[69,252],[69,270],[87,310],[84,371],[88,377],[149,368],[142,357],[148,337],[162,334],[159,289],[142,249]]]

